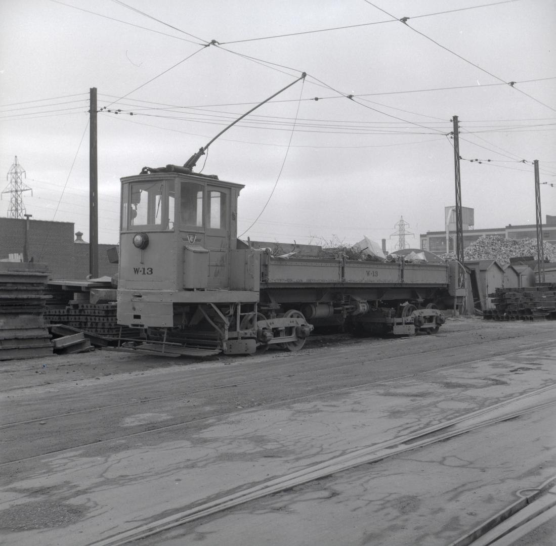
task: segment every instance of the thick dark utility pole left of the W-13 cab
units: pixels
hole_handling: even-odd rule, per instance
[[[89,133],[89,273],[98,277],[98,168],[97,168],[97,88],[90,89]]]

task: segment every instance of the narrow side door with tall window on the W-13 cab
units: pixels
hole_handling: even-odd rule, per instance
[[[209,254],[209,288],[230,286],[230,189],[207,184],[205,248]]]

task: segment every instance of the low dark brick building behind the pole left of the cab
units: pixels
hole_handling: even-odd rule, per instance
[[[0,218],[0,260],[23,254],[26,220]],[[29,260],[48,264],[52,279],[85,279],[89,274],[89,244],[74,237],[72,222],[29,219]],[[108,261],[107,249],[114,244],[98,245],[98,276],[112,277],[118,264]]]

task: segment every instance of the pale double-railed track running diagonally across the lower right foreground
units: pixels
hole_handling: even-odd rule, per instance
[[[488,408],[484,408],[460,418],[449,420],[436,427],[429,427],[415,434],[397,437],[372,447],[364,449],[355,449],[352,452],[334,457],[325,463],[312,465],[298,472],[293,472],[258,483],[253,487],[244,489],[221,498],[211,499],[208,502],[195,505],[192,508],[185,508],[181,512],[175,513],[170,517],[161,518],[155,522],[141,525],[135,529],[118,533],[110,538],[96,540],[90,543],[90,546],[122,546],[139,540],[153,537],[167,530],[179,527],[195,520],[215,515],[225,510],[238,507],[241,504],[251,502],[268,495],[276,494],[284,490],[290,490],[299,485],[312,482],[328,477],[333,474],[343,472],[347,469],[358,467],[363,464],[376,463],[391,457],[395,457],[410,450],[415,450],[429,446],[431,444],[445,442],[450,438],[469,433],[473,430],[488,427],[499,422],[504,422],[522,417],[529,413],[539,412],[547,408],[556,407],[556,385],[537,389],[534,392],[522,395],[512,400],[494,404]],[[535,399],[540,399],[535,401]],[[510,509],[505,510],[503,514],[499,514],[497,519],[492,521],[502,523],[513,513],[517,512],[527,504],[527,500],[518,502]],[[548,508],[552,508],[554,504],[550,504]],[[504,514],[506,514],[504,516]],[[473,539],[478,539],[482,534],[491,529],[494,524],[485,523],[482,527],[475,529],[473,533],[466,535],[453,542],[450,546],[468,546]],[[469,540],[469,542],[466,542]],[[486,544],[490,543],[484,543]]]

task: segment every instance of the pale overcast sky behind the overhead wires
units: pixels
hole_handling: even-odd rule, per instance
[[[420,233],[444,229],[444,207],[455,203],[453,116],[475,229],[535,223],[534,159],[543,219],[556,214],[553,0],[0,0],[0,8],[0,189],[17,156],[32,188],[27,213],[73,222],[86,241],[90,88],[106,108],[99,242],[112,244],[121,177],[185,163],[302,72],[305,81],[198,162],[197,171],[245,184],[244,238],[368,236],[394,249],[403,217],[414,234],[406,242],[418,247]],[[8,206],[3,194],[0,216]]]

